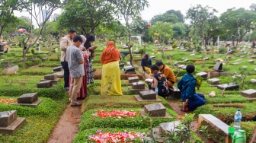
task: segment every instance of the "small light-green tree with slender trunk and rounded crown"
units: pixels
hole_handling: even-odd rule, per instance
[[[173,36],[174,32],[171,27],[171,23],[157,22],[155,25],[149,28],[149,35],[158,40],[162,47],[162,57],[165,57],[165,41],[169,40]]]

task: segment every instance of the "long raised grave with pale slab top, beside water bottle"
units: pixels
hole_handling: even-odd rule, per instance
[[[208,126],[207,130],[214,142],[232,142],[232,137],[229,135],[229,126],[215,116],[200,114],[197,129],[200,129],[201,126]]]

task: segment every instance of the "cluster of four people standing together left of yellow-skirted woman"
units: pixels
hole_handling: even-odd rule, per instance
[[[94,36],[76,35],[75,30],[60,40],[61,65],[64,70],[64,88],[69,92],[71,106],[81,106],[78,98],[87,96],[87,84],[94,83],[91,59],[95,47],[91,46]]]

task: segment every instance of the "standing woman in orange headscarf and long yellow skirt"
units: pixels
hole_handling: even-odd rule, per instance
[[[101,95],[123,95],[121,88],[119,59],[120,52],[110,41],[101,55]]]

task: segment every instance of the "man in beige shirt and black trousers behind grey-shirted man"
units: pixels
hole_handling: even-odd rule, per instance
[[[64,70],[64,88],[69,91],[69,65],[66,57],[66,50],[72,45],[72,39],[75,37],[75,30],[69,30],[69,34],[66,37],[62,37],[59,46],[61,50],[60,62]]]

